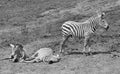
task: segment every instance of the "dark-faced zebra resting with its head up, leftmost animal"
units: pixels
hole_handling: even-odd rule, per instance
[[[20,62],[21,60],[27,59],[29,56],[26,53],[26,50],[23,49],[23,46],[21,44],[9,44],[12,48],[12,53],[9,57],[9,59],[12,62]]]

